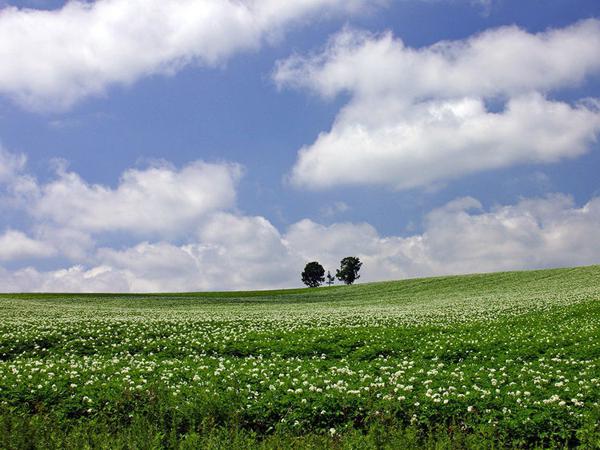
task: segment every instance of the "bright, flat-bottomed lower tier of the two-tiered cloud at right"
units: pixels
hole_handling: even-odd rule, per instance
[[[579,156],[600,131],[597,111],[539,94],[511,99],[502,113],[486,111],[476,98],[406,107],[388,100],[369,114],[374,107],[354,104],[342,111],[331,132],[300,151],[292,181],[311,189],[427,186],[486,169]]]

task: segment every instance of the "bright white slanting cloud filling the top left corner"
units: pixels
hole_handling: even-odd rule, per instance
[[[59,10],[0,9],[0,92],[67,108],[152,74],[215,66],[292,23],[353,12],[363,0],[97,0]]]

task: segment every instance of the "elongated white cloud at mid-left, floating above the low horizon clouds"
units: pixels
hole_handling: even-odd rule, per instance
[[[126,171],[116,188],[89,184],[74,172],[40,185],[27,208],[39,220],[88,233],[176,235],[209,213],[231,208],[241,168],[194,162]]]

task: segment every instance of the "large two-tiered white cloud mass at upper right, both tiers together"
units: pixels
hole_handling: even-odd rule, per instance
[[[421,49],[390,33],[346,29],[274,73],[280,87],[351,95],[331,130],[300,150],[291,181],[406,189],[578,156],[600,132],[598,101],[573,105],[549,93],[598,75],[599,47],[595,19],[538,34],[504,27]]]

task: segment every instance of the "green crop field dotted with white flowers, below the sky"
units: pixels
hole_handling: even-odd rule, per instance
[[[0,296],[0,448],[600,447],[600,266]]]

